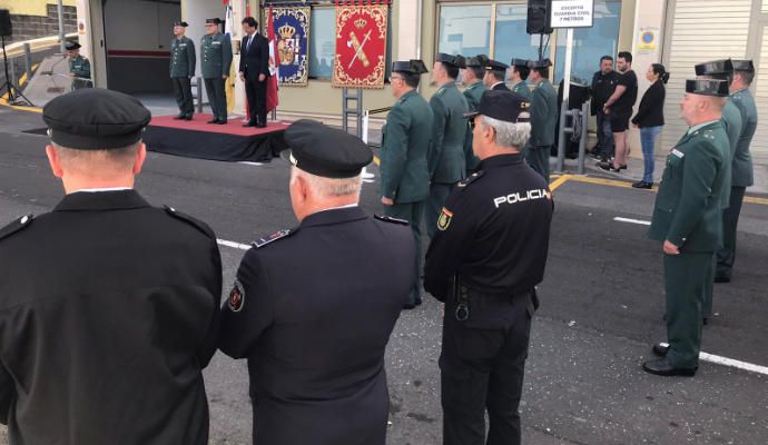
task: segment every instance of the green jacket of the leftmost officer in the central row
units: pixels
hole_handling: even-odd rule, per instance
[[[432,126],[432,109],[416,91],[406,92],[392,107],[382,129],[382,196],[403,204],[430,195],[426,154]]]

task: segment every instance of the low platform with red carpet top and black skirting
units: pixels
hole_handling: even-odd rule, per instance
[[[193,120],[159,116],[149,122],[142,139],[150,151],[230,162],[269,162],[286,148],[283,134],[291,122],[244,128],[239,118],[227,125],[207,123],[210,119],[211,115],[195,115]]]

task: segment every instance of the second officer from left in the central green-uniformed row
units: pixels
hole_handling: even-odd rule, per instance
[[[461,56],[437,53],[432,69],[432,83],[439,86],[430,99],[434,115],[432,145],[427,154],[430,197],[426,204],[426,233],[432,238],[437,216],[453,187],[464,179],[464,141],[466,139],[466,99],[456,88],[459,70],[465,67]]]

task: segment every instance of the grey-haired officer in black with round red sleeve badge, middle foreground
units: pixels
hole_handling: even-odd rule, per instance
[[[416,279],[407,221],[357,207],[373,154],[299,120],[285,131],[298,228],[246,253],[219,347],[247,358],[259,445],[384,445],[384,350]]]

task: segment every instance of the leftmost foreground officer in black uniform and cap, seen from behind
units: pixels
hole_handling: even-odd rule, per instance
[[[12,444],[208,443],[201,368],[221,264],[208,226],[132,189],[149,111],[78,90],[43,109],[52,212],[0,230],[0,422]]]

